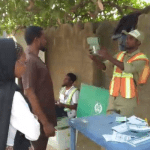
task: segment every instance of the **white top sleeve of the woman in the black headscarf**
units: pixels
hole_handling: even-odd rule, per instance
[[[7,146],[14,146],[17,130],[30,141],[36,141],[40,136],[40,124],[20,92],[15,92],[13,98]]]

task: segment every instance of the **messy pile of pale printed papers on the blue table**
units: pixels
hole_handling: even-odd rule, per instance
[[[148,123],[136,116],[128,118],[125,123],[112,127],[112,130],[112,135],[103,135],[106,141],[125,142],[137,146],[150,139]]]

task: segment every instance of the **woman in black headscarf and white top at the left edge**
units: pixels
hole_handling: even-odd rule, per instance
[[[26,56],[12,39],[0,39],[0,150],[32,150],[40,124],[19,92],[15,77],[24,74]]]

